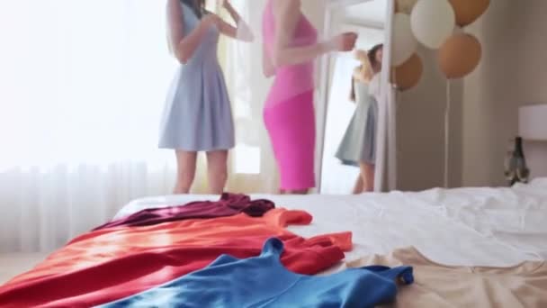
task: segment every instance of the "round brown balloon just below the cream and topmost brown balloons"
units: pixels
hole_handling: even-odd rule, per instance
[[[453,34],[438,51],[439,68],[449,79],[464,77],[477,68],[481,53],[477,38],[466,33]]]

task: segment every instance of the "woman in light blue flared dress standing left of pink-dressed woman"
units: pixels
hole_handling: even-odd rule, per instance
[[[219,35],[253,41],[247,23],[228,0],[220,3],[237,27],[205,11],[204,2],[167,0],[169,46],[181,66],[167,95],[159,148],[175,149],[175,194],[189,193],[200,151],[207,152],[211,193],[224,190],[228,151],[235,142],[229,95],[217,59]]]

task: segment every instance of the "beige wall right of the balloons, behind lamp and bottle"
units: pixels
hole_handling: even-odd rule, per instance
[[[496,0],[469,28],[482,42],[480,67],[464,80],[465,186],[503,186],[508,140],[518,133],[518,107],[547,103],[547,1]]]

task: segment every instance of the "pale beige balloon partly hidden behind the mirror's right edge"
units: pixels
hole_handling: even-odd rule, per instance
[[[391,65],[403,64],[417,49],[417,40],[410,28],[410,17],[397,13],[393,16],[393,48]]]

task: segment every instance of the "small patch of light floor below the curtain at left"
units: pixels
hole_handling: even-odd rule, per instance
[[[47,253],[0,253],[0,285],[22,274],[48,256]]]

